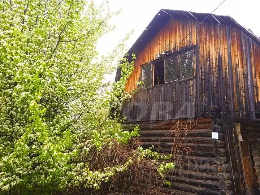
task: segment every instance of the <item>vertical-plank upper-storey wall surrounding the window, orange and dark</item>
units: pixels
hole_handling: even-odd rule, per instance
[[[199,21],[193,19],[171,17],[137,55],[135,69],[128,79],[125,91],[136,89],[135,82],[140,80],[141,65],[156,60],[158,53],[174,48],[197,24]],[[148,108],[140,109],[147,109],[147,113],[151,113],[149,108],[152,109],[150,106],[155,101],[165,101],[168,98],[173,106],[179,107],[188,101],[187,108],[184,109],[186,113],[181,111],[182,117],[175,115],[179,110],[178,107],[173,107],[172,114],[168,116],[171,119],[206,115],[207,105],[221,106],[223,111],[232,112],[236,119],[254,118],[254,111],[260,111],[258,41],[237,26],[204,22],[174,48],[173,53],[192,46],[198,47],[196,78],[178,82],[190,94],[190,98],[187,94],[184,95],[186,98],[183,97],[183,92],[178,91],[180,87],[174,82],[143,89],[125,105],[128,111],[126,116],[130,121],[162,119],[149,115],[138,118],[137,104],[144,98]]]

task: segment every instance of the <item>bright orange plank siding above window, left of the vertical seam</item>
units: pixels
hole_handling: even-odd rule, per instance
[[[188,23],[188,24],[187,24]],[[175,19],[170,20],[149,42],[145,49],[137,56],[135,60],[135,69],[132,76],[129,77],[125,91],[132,91],[136,88],[135,82],[139,81],[141,65],[157,59],[156,55],[163,51],[175,47],[188,33],[196,27],[193,20]],[[179,51],[182,48],[188,48],[197,44],[196,30],[191,33],[185,41],[177,46],[173,51]]]

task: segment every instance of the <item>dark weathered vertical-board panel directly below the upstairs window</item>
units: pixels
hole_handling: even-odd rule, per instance
[[[125,102],[123,116],[128,121],[194,118],[197,106],[191,98],[196,99],[195,86],[193,79],[141,90]]]

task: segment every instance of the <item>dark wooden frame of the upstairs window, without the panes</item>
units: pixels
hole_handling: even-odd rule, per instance
[[[153,70],[152,70],[152,72],[153,72],[153,75],[152,75],[153,83],[152,83],[151,87],[141,88],[141,90],[151,89],[151,88],[156,88],[156,87],[163,86],[163,85],[168,85],[168,84],[171,84],[171,83],[177,83],[177,82],[183,82],[183,81],[186,81],[186,80],[194,80],[194,79],[196,79],[196,75],[197,75],[197,58],[198,58],[197,57],[197,50],[198,50],[197,47],[198,47],[197,45],[193,46],[193,47],[189,47],[189,48],[187,48],[185,50],[180,50],[180,51],[177,51],[175,53],[172,53],[172,54],[170,54],[167,57],[164,57],[162,59],[155,59],[155,60],[153,60],[153,61],[151,61],[149,63],[142,64],[140,66],[141,71],[140,71],[140,76],[139,76],[140,79],[139,79],[139,81],[141,81],[141,79],[142,79],[142,67],[145,67],[145,66],[148,66],[148,65],[152,64],[152,68],[153,68]],[[194,50],[193,51],[193,75],[194,76],[187,77],[187,78],[179,80],[179,74],[180,74],[180,54],[186,53],[186,52],[188,52],[190,50]],[[178,79],[166,82],[166,67],[165,67],[166,63],[165,63],[165,60],[171,59],[171,58],[174,58],[174,57],[177,57],[177,60],[178,60]],[[162,60],[164,61],[164,83],[160,84],[160,85],[155,85],[154,86],[154,64],[158,63],[158,62],[160,62]]]

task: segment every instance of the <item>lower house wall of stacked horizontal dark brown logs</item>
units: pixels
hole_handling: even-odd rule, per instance
[[[223,128],[219,119],[214,121],[194,118],[132,123],[141,128],[143,148],[153,145],[153,151],[165,155],[176,155],[178,150],[179,160],[174,160],[176,167],[166,175],[171,186],[160,188],[165,194],[205,194],[206,190],[219,187],[233,194]],[[212,139],[211,132],[219,132],[219,139]]]

